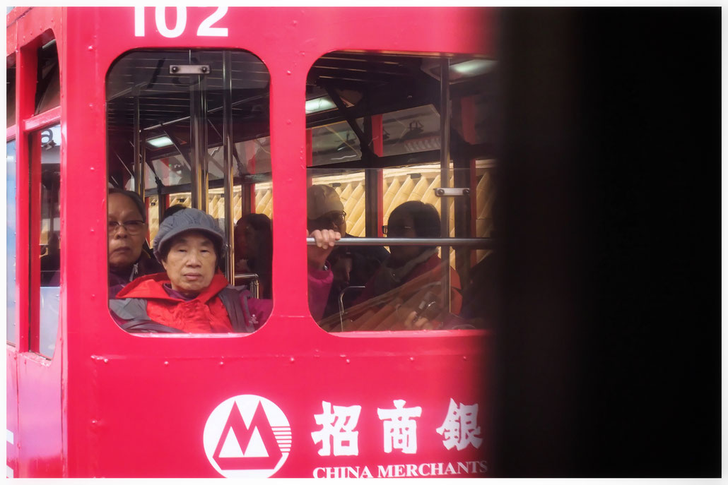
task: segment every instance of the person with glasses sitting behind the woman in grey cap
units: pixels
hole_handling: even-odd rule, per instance
[[[130,281],[163,271],[146,244],[146,207],[132,191],[108,191],[108,286],[111,296]]]

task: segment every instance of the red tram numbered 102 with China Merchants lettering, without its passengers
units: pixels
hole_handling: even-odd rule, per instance
[[[345,328],[343,310],[317,324],[301,201],[336,188],[357,244],[381,246],[406,243],[380,239],[392,207],[431,201],[443,238],[427,244],[467,291],[490,231],[494,23],[474,8],[12,9],[7,476],[486,476],[491,333]],[[266,324],[119,329],[111,187],[143,196],[148,241],[170,205],[212,214],[231,282],[235,220],[272,216]]]

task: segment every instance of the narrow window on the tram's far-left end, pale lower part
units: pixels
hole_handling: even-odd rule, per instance
[[[40,159],[39,179],[33,179],[31,191],[39,191],[40,217],[37,234],[40,254],[39,334],[33,335],[31,350],[52,357],[58,334],[58,305],[60,302],[60,125],[54,125],[31,135],[31,160]],[[36,183],[37,180],[37,183]],[[38,348],[34,342],[38,342]]]

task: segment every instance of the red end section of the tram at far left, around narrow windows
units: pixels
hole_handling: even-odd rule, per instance
[[[40,328],[40,132],[60,124],[66,131],[60,104],[35,114],[39,50],[55,40],[58,49],[60,92],[66,85],[64,9],[16,8],[7,15],[7,57],[15,56],[15,124],[6,140],[15,140],[15,342],[7,344],[7,476],[63,476],[66,454],[67,395],[66,288],[63,265],[55,350],[44,356]],[[60,144],[60,254],[66,259],[65,181],[66,140]]]

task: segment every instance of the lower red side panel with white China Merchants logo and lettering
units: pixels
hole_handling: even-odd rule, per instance
[[[92,408],[106,410],[94,425],[97,473],[487,475],[487,335],[449,337],[449,343],[434,336],[389,343],[324,337],[328,342],[312,348],[282,348],[272,332],[253,334],[218,358],[164,351],[100,356],[91,363],[90,382]],[[162,344],[159,338],[147,340]],[[332,341],[339,351],[320,350],[331,348]],[[114,385],[104,385],[108,382]]]

